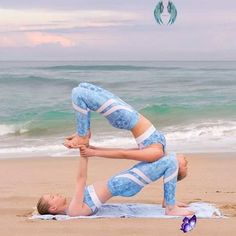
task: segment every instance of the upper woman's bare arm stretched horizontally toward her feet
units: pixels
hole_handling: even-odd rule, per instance
[[[83,156],[87,157],[99,156],[105,158],[129,159],[146,162],[156,161],[164,155],[161,145],[153,145],[141,150],[84,148],[81,152]]]

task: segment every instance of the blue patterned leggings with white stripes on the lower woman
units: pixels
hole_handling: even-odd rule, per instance
[[[140,162],[108,180],[112,196],[131,197],[141,189],[163,176],[164,199],[167,205],[175,205],[175,191],[178,175],[178,161],[175,154],[169,154],[155,162]]]

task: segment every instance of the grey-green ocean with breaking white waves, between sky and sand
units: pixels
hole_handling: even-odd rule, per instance
[[[236,151],[236,62],[0,62],[0,158],[75,156],[71,90],[108,89],[149,118],[171,152]],[[129,131],[92,113],[91,144],[134,147]]]

